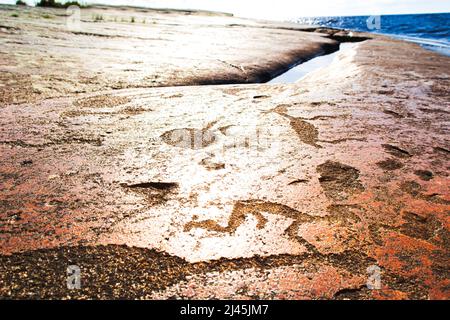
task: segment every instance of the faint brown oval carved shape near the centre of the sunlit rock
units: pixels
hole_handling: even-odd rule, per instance
[[[216,141],[214,132],[207,129],[174,129],[166,131],[161,139],[172,146],[190,149],[202,149]]]

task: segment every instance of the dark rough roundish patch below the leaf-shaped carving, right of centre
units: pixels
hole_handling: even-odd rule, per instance
[[[317,166],[319,182],[325,194],[335,200],[345,200],[353,193],[364,190],[359,181],[359,170],[351,166],[327,161]]]

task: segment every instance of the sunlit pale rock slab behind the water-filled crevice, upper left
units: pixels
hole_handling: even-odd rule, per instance
[[[0,6],[0,79],[8,84],[0,88],[1,103],[107,89],[263,82],[339,46],[295,24],[213,13],[13,9]]]

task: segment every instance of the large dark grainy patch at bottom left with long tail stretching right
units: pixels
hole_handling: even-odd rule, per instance
[[[329,256],[271,255],[189,263],[154,249],[124,245],[74,246],[0,256],[0,297],[13,299],[143,299],[189,276],[253,268],[330,263],[355,273],[372,259],[346,251]],[[67,288],[67,267],[80,268],[80,289]]]

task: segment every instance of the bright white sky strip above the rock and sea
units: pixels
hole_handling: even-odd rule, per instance
[[[26,0],[34,3],[36,0]],[[450,0],[79,0],[160,8],[205,9],[237,16],[289,19],[302,16],[450,12]],[[15,3],[15,0],[0,0]]]

